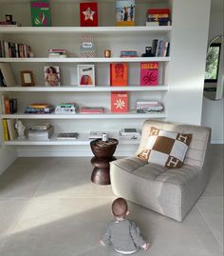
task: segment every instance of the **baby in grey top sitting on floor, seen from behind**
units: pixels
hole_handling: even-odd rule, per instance
[[[121,254],[132,254],[140,247],[147,250],[150,246],[146,244],[140,236],[140,229],[132,221],[126,219],[129,214],[127,202],[123,198],[117,198],[112,204],[112,213],[115,220],[107,226],[100,243],[103,246],[114,246],[115,250]]]

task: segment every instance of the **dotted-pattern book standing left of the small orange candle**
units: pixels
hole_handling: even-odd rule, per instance
[[[96,53],[96,40],[94,36],[84,35],[80,37],[80,57],[82,58],[95,58]]]

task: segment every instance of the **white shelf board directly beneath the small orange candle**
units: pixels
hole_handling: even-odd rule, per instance
[[[130,58],[0,58],[0,62],[10,63],[111,63],[111,62],[169,62],[170,57],[130,57]]]

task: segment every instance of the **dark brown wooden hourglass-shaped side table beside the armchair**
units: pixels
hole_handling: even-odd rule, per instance
[[[113,154],[117,148],[119,141],[114,138],[109,138],[103,142],[102,139],[97,139],[90,142],[90,147],[95,155],[91,159],[91,164],[94,166],[91,181],[98,185],[110,184],[110,162],[116,160]]]

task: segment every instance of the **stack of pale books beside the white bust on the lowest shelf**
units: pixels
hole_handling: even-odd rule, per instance
[[[28,139],[32,141],[47,141],[54,132],[54,127],[49,123],[31,125],[28,128]]]

